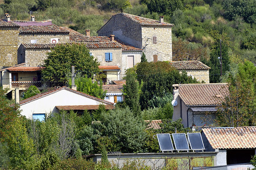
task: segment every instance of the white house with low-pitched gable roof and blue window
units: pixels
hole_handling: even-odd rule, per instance
[[[77,108],[81,107],[88,108],[85,107],[86,105],[94,105],[96,108],[100,104],[112,105],[114,107],[114,103],[72,90],[68,87],[56,88],[22,100],[19,103],[20,114],[27,118],[38,118],[39,120],[44,120],[45,114],[56,113],[64,106],[78,110]],[[107,106],[106,108],[109,107]]]

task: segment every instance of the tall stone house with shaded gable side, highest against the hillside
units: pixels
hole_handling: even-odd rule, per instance
[[[163,22],[163,16],[158,21],[119,13],[99,29],[98,35],[115,35],[120,41],[143,49],[148,62],[172,61],[171,27],[173,24]]]

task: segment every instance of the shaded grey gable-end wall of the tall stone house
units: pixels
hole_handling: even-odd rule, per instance
[[[98,31],[99,36],[115,35],[119,40],[142,48],[141,25],[127,17],[117,14]]]

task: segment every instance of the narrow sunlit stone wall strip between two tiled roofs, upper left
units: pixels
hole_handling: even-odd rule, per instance
[[[51,34],[39,34],[39,35],[19,35],[19,45],[24,43],[31,43],[31,40],[36,40],[37,44],[48,44],[51,43],[51,39],[58,39],[58,43],[69,42],[69,35],[51,35]]]

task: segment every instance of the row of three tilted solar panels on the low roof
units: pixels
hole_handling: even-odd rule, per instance
[[[173,136],[173,142],[171,140],[171,135]],[[200,133],[187,133],[187,137],[185,133],[173,133],[173,134],[165,133],[165,134],[157,134],[158,143],[160,146],[160,150],[164,151],[188,151],[188,150],[204,150],[204,143],[202,140],[202,136]],[[188,141],[187,141],[188,139]],[[189,142],[189,145],[188,145]]]

